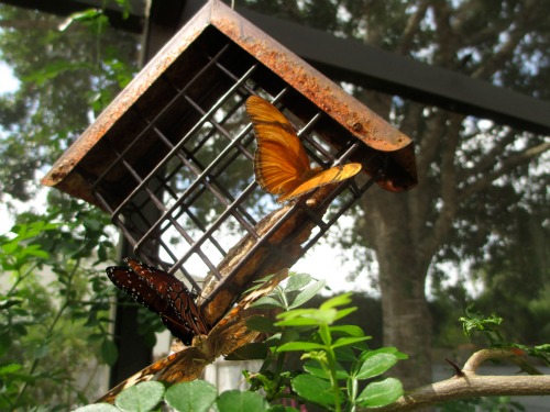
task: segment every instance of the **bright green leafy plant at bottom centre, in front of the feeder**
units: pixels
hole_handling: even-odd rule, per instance
[[[109,409],[112,411],[150,411],[158,408],[160,402],[176,411],[207,411],[213,405],[220,412],[296,411],[282,404],[287,401],[315,403],[333,411],[354,411],[358,407],[394,402],[403,393],[402,385],[397,379],[382,379],[381,376],[406,355],[392,347],[370,350],[365,341],[371,337],[359,326],[336,324],[355,311],[355,308],[348,308],[349,293],[329,299],[318,309],[298,308],[323,286],[322,281],[311,281],[308,275],[294,275],[286,288],[277,287],[274,293],[254,303],[257,309],[283,312],[276,321],[257,316],[248,322],[249,327],[272,334],[260,344],[266,349],[260,350],[265,359],[260,371],[243,372],[251,383],[250,391],[227,391],[217,397],[216,389],[212,391],[210,383],[201,381],[177,383],[166,391],[158,382],[143,382],[117,397],[114,404],[119,409],[100,403],[78,411],[100,411],[103,407],[114,408]],[[252,358],[258,353],[257,345],[243,347],[228,358]],[[304,370],[285,370],[289,352],[302,353]],[[364,386],[361,391],[360,383]]]

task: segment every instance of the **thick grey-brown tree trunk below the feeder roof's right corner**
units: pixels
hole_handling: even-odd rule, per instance
[[[410,233],[410,194],[371,190],[363,203],[363,236],[376,250],[384,345],[409,356],[392,372],[406,389],[431,382],[431,321],[425,294],[431,256],[422,253]]]

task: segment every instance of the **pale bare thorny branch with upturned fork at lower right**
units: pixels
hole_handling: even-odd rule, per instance
[[[391,405],[377,412],[413,411],[441,402],[479,397],[550,394],[550,376],[479,376],[477,368],[487,359],[509,359],[518,356],[510,349],[483,349],[473,354],[462,369],[462,376],[407,391]]]

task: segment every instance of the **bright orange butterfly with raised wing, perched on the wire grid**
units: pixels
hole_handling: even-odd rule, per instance
[[[321,186],[355,176],[361,164],[311,168],[306,149],[293,126],[272,103],[257,96],[246,100],[246,112],[254,126],[257,149],[254,174],[260,187],[278,194],[278,203],[296,199]]]

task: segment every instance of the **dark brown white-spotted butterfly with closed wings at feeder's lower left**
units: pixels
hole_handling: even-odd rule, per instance
[[[208,334],[209,329],[189,290],[179,279],[129,257],[124,261],[129,267],[106,269],[119,289],[157,313],[168,331],[185,345],[190,345],[194,336]]]

